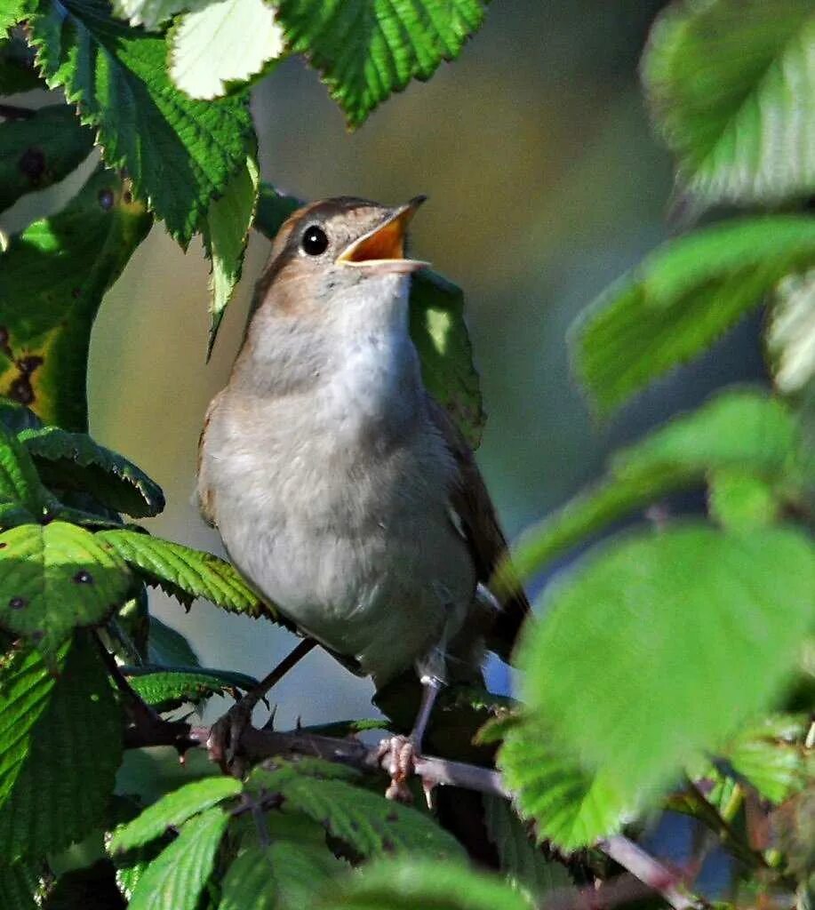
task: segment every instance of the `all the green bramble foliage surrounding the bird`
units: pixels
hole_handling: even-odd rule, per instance
[[[413,679],[377,693],[385,719],[284,732],[337,761],[276,753],[236,779],[141,749],[190,747],[183,712],[256,685],[201,667],[149,615],[146,586],[187,609],[206,598],[287,623],[228,561],[123,519],[165,502],[86,431],[96,312],[155,217],[184,248],[201,238],[211,350],[250,229],[273,238],[299,205],[261,180],[251,84],[302,55],[360,126],[457,57],[486,6],[0,3],[0,91],[60,87],[67,102],[2,108],[0,208],[68,177],[94,147],[101,156],[61,211],[0,254],[0,905],[73,908],[83,888],[133,910],[521,910],[553,891],[558,905],[572,872],[625,885],[602,852],[625,864],[609,844],[671,809],[738,860],[723,907],[779,894],[811,906],[815,14],[804,0],[677,0],[652,30],[642,76],[677,160],[676,201],[709,220],[587,308],[571,333],[577,376],[609,412],[765,306],[773,386],[721,389],[620,450],[519,542],[524,581],[568,558],[522,631],[523,697],[462,687],[428,731],[440,754],[481,765],[469,780],[499,775],[509,798],[444,788],[438,813],[408,808],[384,798],[369,755],[344,763],[358,733],[405,726]],[[754,210],[728,216],[721,203]],[[462,290],[418,273],[409,328],[429,391],[475,447],[484,415]],[[704,491],[705,514],[663,508],[687,490]],[[620,528],[651,508],[652,525]],[[505,594],[517,583],[507,570],[494,580]],[[677,905],[665,868],[649,875],[654,861],[628,844],[629,873]]]

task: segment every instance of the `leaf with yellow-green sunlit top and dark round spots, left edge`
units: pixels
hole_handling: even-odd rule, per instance
[[[0,627],[54,652],[76,627],[98,625],[133,578],[98,535],[65,521],[0,534]]]

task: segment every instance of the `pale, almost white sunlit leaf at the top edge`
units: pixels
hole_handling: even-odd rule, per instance
[[[216,98],[283,54],[283,33],[265,0],[215,0],[186,13],[170,33],[170,78],[186,95]]]

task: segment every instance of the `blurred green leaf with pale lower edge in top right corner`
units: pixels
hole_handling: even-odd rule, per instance
[[[813,42],[809,0],[703,0],[661,15],[642,73],[697,205],[811,195]]]

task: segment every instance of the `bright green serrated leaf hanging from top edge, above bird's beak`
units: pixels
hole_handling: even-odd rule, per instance
[[[349,126],[411,79],[454,60],[484,20],[484,0],[280,0],[289,49],[319,70]]]

